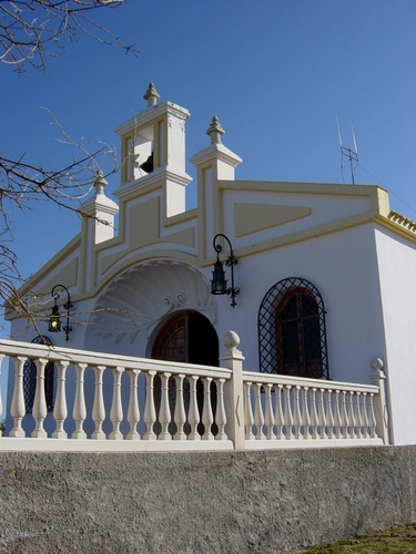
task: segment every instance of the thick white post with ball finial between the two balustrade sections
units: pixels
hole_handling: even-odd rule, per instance
[[[225,384],[226,396],[226,429],[227,435],[234,442],[235,450],[245,448],[244,438],[244,390],[243,360],[244,356],[237,349],[240,337],[235,331],[229,331],[224,337],[225,351],[220,358],[220,365],[231,369],[233,375]]]

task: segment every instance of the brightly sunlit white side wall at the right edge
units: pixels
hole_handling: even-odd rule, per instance
[[[416,256],[415,245],[376,230],[386,329],[385,371],[395,444],[416,443]]]

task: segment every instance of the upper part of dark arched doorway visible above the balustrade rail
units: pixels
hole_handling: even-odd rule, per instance
[[[219,366],[219,338],[210,320],[197,311],[171,317],[158,332],[152,358]]]

